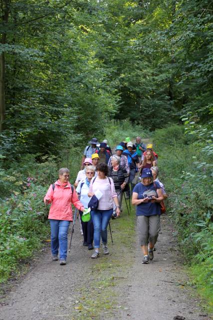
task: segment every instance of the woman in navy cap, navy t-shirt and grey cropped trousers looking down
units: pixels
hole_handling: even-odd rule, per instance
[[[132,204],[136,205],[137,223],[141,249],[142,263],[149,263],[154,258],[154,245],[160,231],[160,202],[164,199],[162,189],[156,181],[153,183],[152,171],[143,169],[141,182],[133,189]]]

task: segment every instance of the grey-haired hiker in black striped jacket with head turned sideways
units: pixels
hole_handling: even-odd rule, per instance
[[[120,156],[112,155],[111,164],[112,165],[109,168],[109,176],[113,179],[115,191],[118,195],[119,206],[121,207],[123,190],[128,184],[129,175],[127,170],[120,165]],[[116,218],[116,216],[116,204],[114,203],[112,218]]]

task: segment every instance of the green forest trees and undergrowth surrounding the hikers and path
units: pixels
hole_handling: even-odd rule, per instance
[[[151,137],[192,285],[213,284],[213,2],[1,0],[0,280],[48,232],[41,201],[88,139]]]

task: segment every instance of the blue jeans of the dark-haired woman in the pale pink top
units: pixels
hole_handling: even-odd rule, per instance
[[[107,244],[107,225],[112,216],[113,209],[109,210],[92,210],[92,222],[94,225],[94,247],[100,247],[100,240]]]

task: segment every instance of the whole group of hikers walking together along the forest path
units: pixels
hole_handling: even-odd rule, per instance
[[[140,136],[135,143],[126,137],[115,147],[115,152],[107,142],[105,139],[99,143],[93,137],[84,149],[74,186],[69,182],[69,169],[60,168],[58,180],[49,186],[44,197],[45,204],[51,203],[48,219],[52,260],[58,260],[59,252],[60,265],[66,264],[72,204],[76,208],[74,220],[79,210],[83,245],[94,249],[91,258],[98,258],[101,240],[103,254],[109,254],[107,226],[111,218],[120,216],[123,194],[125,200],[132,198],[132,204],[136,205],[142,263],[148,264],[154,258],[160,215],[167,197],[158,179],[158,154]]]

